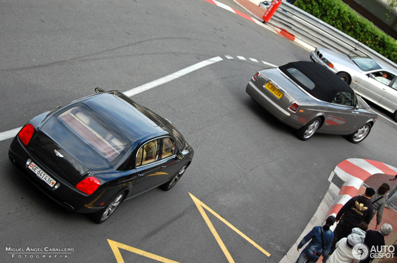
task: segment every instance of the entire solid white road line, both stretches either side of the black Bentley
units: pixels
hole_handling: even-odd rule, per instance
[[[191,73],[191,72],[193,72],[195,70],[198,70],[200,68],[204,68],[205,66],[214,64],[214,63],[222,61],[222,60],[223,59],[221,57],[219,57],[219,56],[218,57],[213,57],[211,59],[207,59],[205,61],[198,62],[197,64],[188,66],[187,68],[179,70],[179,71],[177,71],[177,72],[175,72],[173,74],[170,74],[170,75],[165,76],[165,77],[160,78],[160,79],[156,79],[156,80],[154,80],[152,82],[146,83],[146,84],[144,84],[142,86],[139,86],[139,87],[136,87],[134,89],[130,89],[130,90],[125,91],[123,93],[125,95],[131,97],[133,95],[136,95],[136,94],[141,93],[143,91],[147,91],[148,89],[152,89],[152,88],[157,87],[157,86],[159,86],[161,84],[164,84],[164,83],[167,83],[169,81],[172,81],[173,79],[177,79],[177,78],[182,77],[182,76],[184,76],[184,75],[186,75],[188,73]],[[21,129],[22,129],[22,127],[19,127],[19,128],[16,128],[16,129],[12,129],[10,131],[0,132],[0,141],[7,140],[9,138],[15,137],[17,135],[17,133],[19,132],[19,130],[21,130]]]

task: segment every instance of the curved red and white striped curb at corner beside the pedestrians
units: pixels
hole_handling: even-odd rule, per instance
[[[345,183],[333,202],[328,216],[336,216],[342,206],[357,195],[358,189],[373,174],[389,174],[395,176],[397,168],[379,161],[351,158],[339,163],[333,170]]]

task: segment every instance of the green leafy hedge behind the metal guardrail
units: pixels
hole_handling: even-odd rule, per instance
[[[397,63],[395,40],[341,0],[297,0],[294,5]]]

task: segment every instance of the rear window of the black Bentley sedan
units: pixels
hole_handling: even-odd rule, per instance
[[[58,120],[108,161],[113,161],[128,145],[101,119],[82,106],[58,116]]]

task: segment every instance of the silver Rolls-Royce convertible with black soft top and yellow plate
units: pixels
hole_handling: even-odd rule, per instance
[[[246,91],[270,114],[295,128],[301,140],[321,132],[347,135],[357,144],[378,118],[339,76],[308,61],[260,70]]]

